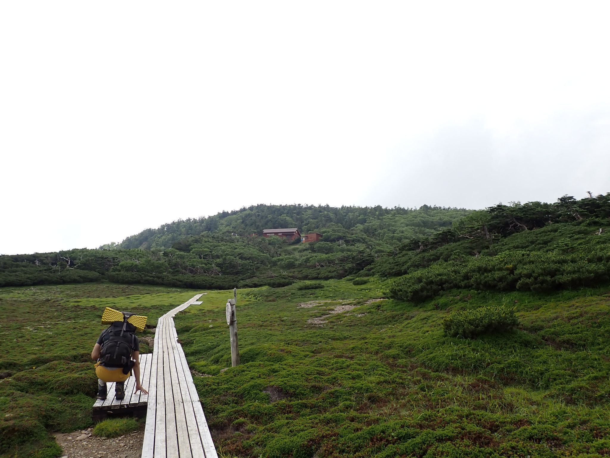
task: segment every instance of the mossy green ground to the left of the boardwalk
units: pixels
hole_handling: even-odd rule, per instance
[[[196,293],[114,283],[0,288],[0,457],[61,456],[48,431],[93,424],[97,378],[91,349],[105,307],[148,316],[149,324]],[[152,336],[145,330],[144,335]],[[149,351],[146,344],[142,352]]]

